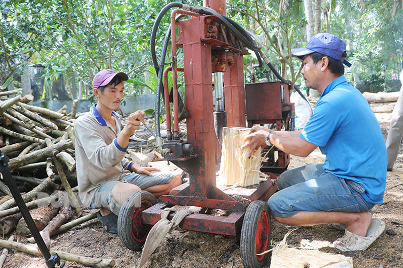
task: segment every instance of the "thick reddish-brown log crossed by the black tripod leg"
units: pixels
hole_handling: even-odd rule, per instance
[[[34,208],[30,210],[29,214],[31,214],[31,217],[36,227],[38,227],[38,230],[41,231],[46,227],[49,221],[56,216],[59,209],[60,208],[48,205],[46,207]],[[17,233],[23,236],[28,236],[31,234],[31,230],[28,228],[24,218],[20,219],[17,224]]]

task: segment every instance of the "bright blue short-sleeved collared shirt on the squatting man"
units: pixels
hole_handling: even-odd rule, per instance
[[[299,137],[326,155],[324,171],[364,186],[367,202],[383,202],[387,156],[382,132],[364,96],[344,76],[326,86]]]

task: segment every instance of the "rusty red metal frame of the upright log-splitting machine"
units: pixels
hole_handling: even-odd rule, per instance
[[[221,14],[226,14],[224,0],[204,0],[204,5]],[[175,16],[178,13],[194,18],[175,23]],[[178,38],[176,38],[176,25],[178,26]],[[183,70],[185,103],[189,113],[189,117],[186,119],[187,143],[193,145],[194,156],[171,159],[173,163],[189,173],[189,184],[172,190],[170,195],[161,196],[159,201],[162,203],[143,211],[142,222],[155,224],[161,219],[162,209],[172,205],[231,210],[233,212],[227,217],[192,214],[186,216],[179,226],[187,230],[235,236],[240,233],[246,207],[216,187],[217,136],[213,120],[212,72],[225,71],[224,94],[227,125],[245,126],[242,55],[247,52],[232,34],[228,34],[230,40],[227,38],[227,33],[214,16],[200,16],[196,13],[174,10],[171,14],[171,27],[173,64],[164,71],[167,119],[169,118],[169,95],[166,78],[168,71],[172,70],[174,138],[176,140],[179,137],[176,73]],[[183,69],[178,68],[176,64],[176,47],[183,49]],[[170,122],[169,118],[167,124]],[[270,174],[257,190],[250,193],[239,191],[237,194],[250,200],[267,201],[268,197],[277,190],[277,184],[272,180],[275,178],[276,175]],[[168,218],[171,219],[173,215],[174,213],[171,213]]]

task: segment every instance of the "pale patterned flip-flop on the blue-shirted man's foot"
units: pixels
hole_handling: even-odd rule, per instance
[[[365,250],[385,230],[385,223],[380,219],[372,219],[365,237],[354,234],[346,229],[343,237],[333,242],[333,246],[342,251]]]

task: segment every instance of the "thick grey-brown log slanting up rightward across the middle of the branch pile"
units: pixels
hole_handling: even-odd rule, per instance
[[[18,159],[10,160],[9,167],[11,170],[13,170],[17,167],[46,159],[48,157],[55,156],[58,152],[71,148],[72,146],[73,142],[71,140],[61,141],[54,144],[52,147],[46,147],[37,151],[33,151],[22,157],[19,157]]]

